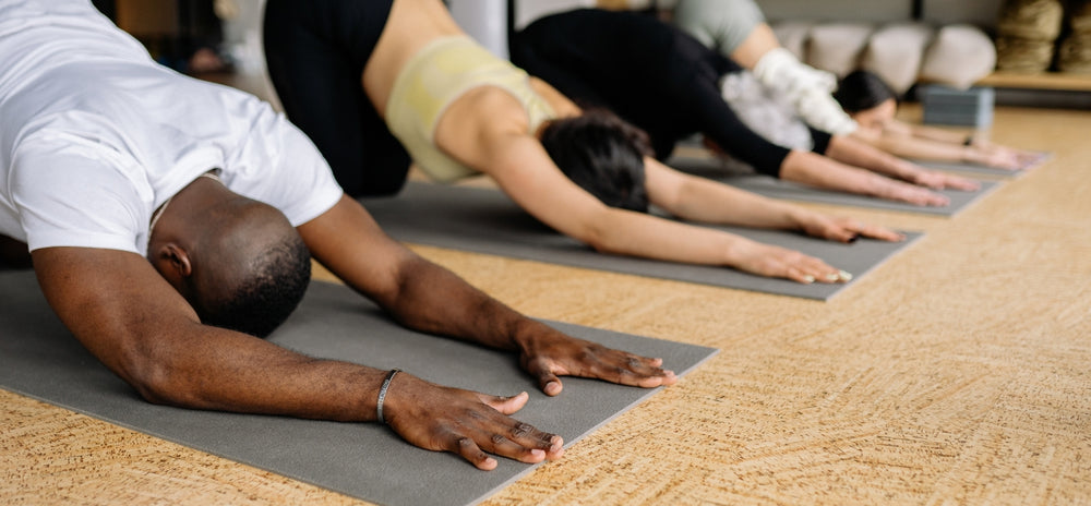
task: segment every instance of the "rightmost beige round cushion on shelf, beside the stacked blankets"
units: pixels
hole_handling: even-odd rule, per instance
[[[984,32],[971,25],[948,25],[924,52],[921,79],[968,88],[995,67],[996,46]]]

